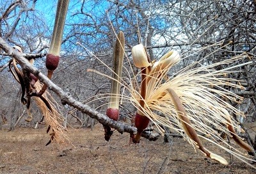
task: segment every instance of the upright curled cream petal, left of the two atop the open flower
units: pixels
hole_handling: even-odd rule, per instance
[[[142,44],[132,47],[132,59],[135,67],[143,68],[150,66],[148,62],[147,53]]]

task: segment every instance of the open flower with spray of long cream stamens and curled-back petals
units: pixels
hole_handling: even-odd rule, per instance
[[[138,88],[137,83],[133,83],[131,89],[129,89],[131,100],[138,108],[135,116],[135,125],[138,132],[134,138],[134,143],[140,141],[141,132],[147,127],[148,120],[151,120],[160,132],[164,132],[162,126],[180,132],[184,138],[188,139],[193,146],[207,157],[222,164],[227,165],[228,162],[220,155],[207,150],[200,140],[198,132],[210,135],[209,138],[204,138],[227,150],[230,154],[234,154],[239,159],[247,159],[243,155],[237,154],[235,148],[228,145],[211,127],[211,125],[218,127],[228,136],[234,138],[242,148],[248,152],[253,152],[253,148],[236,134],[234,127],[236,127],[237,122],[232,120],[229,114],[235,113],[243,116],[243,113],[228,102],[221,100],[221,97],[226,97],[234,102],[241,102],[242,97],[237,96],[232,91],[225,90],[223,86],[239,89],[243,89],[243,86],[236,79],[224,77],[224,74],[230,73],[228,70],[232,67],[228,70],[214,70],[214,67],[218,65],[233,63],[245,57],[246,55],[241,55],[192,70],[187,67],[176,74],[175,77],[164,79],[170,68],[179,62],[178,52],[170,51],[156,63],[150,63],[142,45],[134,46],[132,48],[134,65],[142,68],[140,88]],[[140,91],[137,89],[140,89]],[[220,145],[216,139],[225,143],[232,150]]]

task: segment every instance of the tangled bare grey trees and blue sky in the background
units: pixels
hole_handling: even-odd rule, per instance
[[[17,0],[0,2],[0,36],[10,45],[19,45],[27,55],[36,56],[35,66],[45,70],[45,53],[51,40],[54,13],[57,1],[49,3],[47,10],[42,8],[46,1]],[[93,68],[111,75],[112,49],[115,32],[125,34],[127,59],[124,66],[129,67],[131,48],[141,42],[147,46],[152,59],[174,49],[182,55],[182,61],[173,68],[179,71],[194,61],[209,65],[223,59],[246,52],[253,64],[241,67],[240,72],[231,74],[242,82],[245,90],[234,91],[244,97],[237,105],[246,115],[246,121],[256,119],[256,3],[253,0],[242,1],[72,1],[68,8],[61,61],[52,81],[80,101],[90,102],[90,106],[105,113],[106,99],[90,98],[97,94],[109,93],[110,80],[92,72]],[[50,7],[49,7],[50,6]],[[138,37],[140,31],[140,37]],[[81,43],[86,50],[77,45]],[[93,55],[94,54],[94,55]],[[106,63],[103,65],[99,59]],[[0,113],[1,125],[6,122],[13,128],[17,118],[26,118],[26,107],[20,103],[20,87],[8,71],[11,57],[1,52],[0,56]],[[242,63],[242,62],[237,62]],[[220,68],[224,68],[225,65]],[[136,71],[136,68],[131,69]],[[170,74],[173,74],[170,72]],[[127,74],[125,74],[127,75]],[[232,89],[228,89],[232,90]],[[52,94],[54,95],[54,94]],[[58,99],[56,99],[57,102]],[[79,111],[69,112],[73,108],[61,106],[62,115],[68,123],[80,121],[88,126],[86,115]],[[25,111],[25,112],[24,112]],[[124,117],[134,113],[132,106],[122,106]],[[34,126],[41,114],[33,107],[34,120],[28,126]],[[71,119],[71,118],[79,118]],[[19,125],[26,122],[22,118]]]

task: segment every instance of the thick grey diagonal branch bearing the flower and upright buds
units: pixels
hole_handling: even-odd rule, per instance
[[[86,115],[89,115],[90,117],[95,118],[100,123],[102,123],[104,125],[109,125],[109,127],[116,129],[121,134],[123,132],[129,132],[129,133],[137,132],[135,127],[132,127],[131,125],[128,125],[126,123],[116,122],[116,121],[108,118],[108,116],[102,115],[95,109],[92,109],[87,104],[83,104],[82,102],[79,102],[76,99],[74,99],[74,97],[72,97],[70,95],[70,93],[63,91],[59,86],[52,83],[52,81],[49,80],[44,74],[42,74],[38,69],[33,67],[29,63],[29,61],[23,57],[23,55],[20,52],[16,51],[10,45],[8,45],[6,42],[4,42],[3,38],[0,38],[0,47],[8,55],[12,55],[13,58],[17,59],[17,61],[19,61],[19,64],[22,68],[29,70],[34,75],[36,75],[36,77],[38,77],[38,79],[40,79],[40,81],[42,83],[47,84],[47,86],[49,87],[49,90],[54,91],[54,93],[56,93],[58,95],[58,97],[60,97],[62,104],[68,104],[69,106],[75,107],[82,113],[85,113]],[[155,141],[159,137],[159,134],[144,131],[142,136],[149,140]]]

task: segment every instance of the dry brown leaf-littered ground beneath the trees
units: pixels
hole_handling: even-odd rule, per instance
[[[141,139],[140,145],[129,145],[129,134],[114,132],[111,141],[104,140],[98,123],[95,129],[67,131],[70,142],[49,141],[46,126],[41,129],[17,128],[0,131],[0,173],[256,173],[250,166],[230,157],[224,150],[207,148],[220,154],[228,162],[223,166],[205,158],[181,138],[172,143]],[[246,153],[246,152],[244,152]]]

